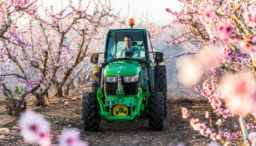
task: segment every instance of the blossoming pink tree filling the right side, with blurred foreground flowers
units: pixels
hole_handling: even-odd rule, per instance
[[[178,80],[185,86],[191,87],[200,80],[201,71],[209,68],[212,77],[205,78],[203,89],[195,87],[201,95],[208,98],[214,112],[222,115],[217,124],[233,114],[240,115],[241,133],[224,135],[213,132],[199,119],[191,119],[191,126],[203,135],[210,134],[213,140],[221,143],[224,138],[236,139],[243,136],[243,144],[255,143],[253,132],[248,136],[248,128],[244,118],[256,113],[254,108],[256,99],[256,11],[255,1],[246,0],[180,0],[182,8],[173,12],[170,27],[180,25],[180,32],[172,34],[168,45],[192,44],[196,54],[194,57],[180,58],[177,62]],[[191,54],[191,53],[188,53]],[[170,57],[173,58],[173,57]],[[216,74],[226,76],[218,86]],[[196,79],[196,80],[195,80]],[[220,92],[219,92],[220,91]],[[224,99],[225,105],[221,102]],[[189,117],[187,109],[183,109],[183,118]],[[255,121],[254,121],[255,122]],[[253,123],[251,123],[253,125]],[[253,139],[254,138],[254,139]]]

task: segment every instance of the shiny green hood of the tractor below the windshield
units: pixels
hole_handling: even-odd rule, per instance
[[[121,76],[138,75],[141,65],[138,61],[114,61],[106,65],[104,74],[116,76],[118,70],[121,71]]]

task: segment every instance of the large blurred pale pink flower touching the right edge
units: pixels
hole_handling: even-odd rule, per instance
[[[225,76],[219,90],[234,114],[256,113],[256,84],[250,74]]]

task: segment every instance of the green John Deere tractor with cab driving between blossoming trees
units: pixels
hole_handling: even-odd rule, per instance
[[[125,37],[133,46],[126,48]],[[103,61],[98,63],[99,54]],[[153,51],[147,29],[110,29],[104,53],[92,53],[95,65],[92,92],[82,97],[82,119],[85,130],[98,131],[100,119],[106,122],[137,122],[140,116],[149,119],[153,131],[164,129],[167,115],[167,80],[163,53]]]

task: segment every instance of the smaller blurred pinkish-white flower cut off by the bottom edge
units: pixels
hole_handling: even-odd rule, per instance
[[[64,130],[59,138],[59,146],[87,146],[86,142],[80,140],[79,133],[75,129]]]

